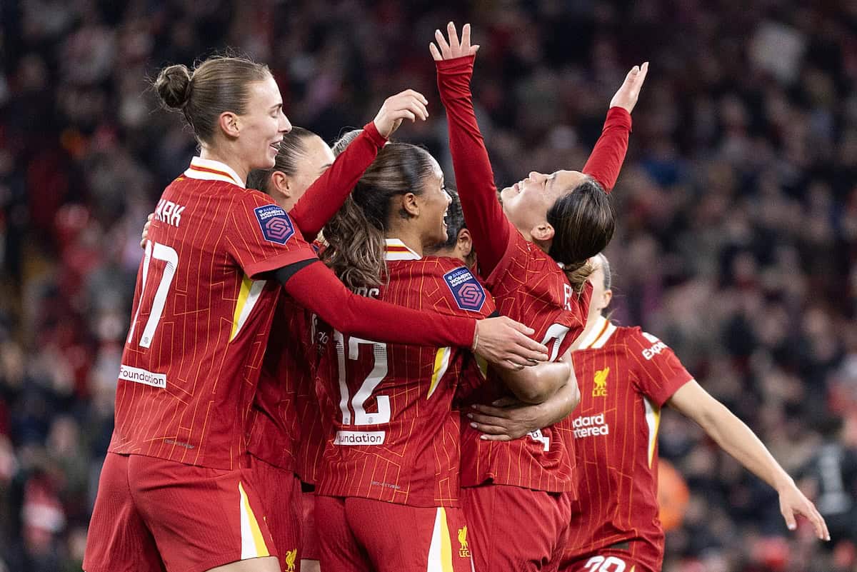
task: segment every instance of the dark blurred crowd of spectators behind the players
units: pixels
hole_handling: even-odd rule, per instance
[[[678,414],[692,496],[668,572],[857,570],[857,2],[7,0],[0,3],[0,570],[80,569],[139,236],[195,142],[148,80],[231,46],[333,140],[405,88],[400,129],[452,178],[428,42],[470,21],[500,184],[579,169],[651,62],[608,248],[614,319],[670,344],[818,504],[776,493]]]

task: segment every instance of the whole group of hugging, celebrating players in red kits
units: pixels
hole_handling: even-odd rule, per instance
[[[452,23],[434,40],[458,194],[425,149],[388,142],[428,116],[420,93],[331,149],[291,128],[261,64],[162,70],[201,153],[144,233],[84,569],[654,572],[665,403],[827,539],[664,343],[602,317],[648,64],[582,171],[498,200],[478,46]]]

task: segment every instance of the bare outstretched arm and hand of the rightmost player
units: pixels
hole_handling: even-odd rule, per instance
[[[830,540],[830,533],[818,509],[794,485],[794,480],[776,462],[750,427],[696,381],[682,385],[668,400],[668,405],[702,427],[748,471],[772,486],[780,496],[780,511],[790,530],[797,526],[794,514],[806,516],[819,539]]]

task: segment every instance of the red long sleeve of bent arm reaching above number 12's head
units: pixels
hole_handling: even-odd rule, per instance
[[[333,164],[309,186],[289,212],[304,236],[309,240],[315,239],[345,203],[363,171],[369,168],[386,143],[375,123],[367,123],[363,126],[363,133],[357,135],[357,139],[351,141]]]

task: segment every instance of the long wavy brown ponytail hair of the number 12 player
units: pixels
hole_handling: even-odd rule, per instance
[[[351,289],[379,286],[385,280],[385,232],[390,218],[410,215],[391,212],[397,195],[423,194],[434,171],[432,156],[416,145],[388,143],[363,173],[351,197],[324,227],[329,246],[322,259]]]

